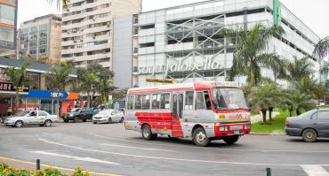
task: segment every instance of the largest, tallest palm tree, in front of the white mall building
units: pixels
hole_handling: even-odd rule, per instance
[[[243,28],[228,29],[225,35],[235,37],[237,41],[229,79],[233,80],[238,74],[246,75],[251,86],[258,85],[261,81],[261,66],[275,68],[280,65],[280,59],[277,55],[262,51],[266,49],[272,35],[281,34],[284,34],[282,27],[265,27],[261,23],[257,23],[249,30]]]

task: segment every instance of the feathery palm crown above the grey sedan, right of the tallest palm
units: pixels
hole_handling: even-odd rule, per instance
[[[293,62],[288,63],[286,66],[286,75],[285,79],[290,82],[298,82],[302,78],[309,78],[312,73],[312,63],[309,62],[308,57],[302,57],[298,59],[297,57],[293,57]]]

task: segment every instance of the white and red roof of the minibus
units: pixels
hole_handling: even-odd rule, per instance
[[[217,87],[231,87],[231,88],[240,88],[237,82],[233,81],[196,81],[188,83],[179,83],[171,85],[161,85],[153,87],[144,87],[144,88],[129,88],[128,94],[140,94],[144,92],[171,92],[171,91],[180,91],[180,90],[202,90],[208,88],[217,88]]]

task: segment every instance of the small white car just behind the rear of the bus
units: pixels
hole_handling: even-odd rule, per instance
[[[92,117],[92,123],[113,123],[113,122],[124,122],[124,114],[122,111],[108,109],[98,112]]]

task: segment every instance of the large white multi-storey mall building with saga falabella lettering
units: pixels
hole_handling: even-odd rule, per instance
[[[319,37],[292,11],[277,0],[212,0],[186,4],[139,14],[138,60],[133,62],[134,86],[158,83],[146,79],[173,79],[175,83],[195,80],[227,80],[236,43],[224,37],[227,28],[253,27],[262,23],[285,29],[282,37],[272,36],[267,52],[293,59],[312,57]],[[274,79],[273,73],[262,69],[262,76]],[[315,75],[320,77],[317,72]],[[243,84],[245,76],[235,80]],[[282,82],[284,83],[284,82]]]

